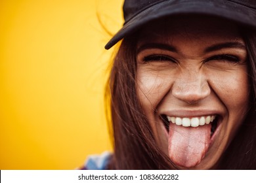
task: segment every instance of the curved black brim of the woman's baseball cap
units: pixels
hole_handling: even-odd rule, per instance
[[[250,25],[256,27],[256,10],[235,3],[233,1],[214,1],[196,0],[196,1],[163,1],[149,7],[139,14],[133,16],[131,20],[125,22],[123,27],[110,39],[105,49],[108,50],[118,41],[134,33],[142,25],[166,16],[178,14],[205,14],[219,16],[228,20],[233,20],[238,24]]]

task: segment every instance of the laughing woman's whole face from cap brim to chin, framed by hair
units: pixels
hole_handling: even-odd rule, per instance
[[[157,145],[179,169],[211,169],[249,100],[245,43],[217,18],[155,22],[137,43],[137,94]]]

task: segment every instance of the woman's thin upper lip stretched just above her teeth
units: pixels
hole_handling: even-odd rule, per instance
[[[194,118],[198,116],[209,116],[209,115],[221,115],[221,111],[219,110],[209,110],[209,109],[201,109],[201,110],[167,110],[161,112],[166,116],[175,116],[181,118]]]

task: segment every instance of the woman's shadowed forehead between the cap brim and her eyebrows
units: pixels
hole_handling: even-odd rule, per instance
[[[140,31],[138,44],[144,42],[228,41],[240,39],[236,24],[211,16],[176,16],[157,20]]]

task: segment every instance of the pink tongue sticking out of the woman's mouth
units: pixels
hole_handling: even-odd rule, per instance
[[[170,123],[169,158],[176,165],[194,167],[200,163],[209,147],[211,124],[183,127]]]

